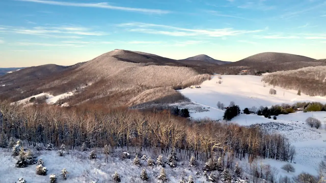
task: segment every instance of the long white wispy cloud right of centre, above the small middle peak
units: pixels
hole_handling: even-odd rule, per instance
[[[234,36],[241,34],[258,33],[263,30],[234,30],[233,28],[224,29],[187,29],[168,25],[148,24],[141,22],[123,23],[119,24],[120,27],[132,27],[127,29],[129,32],[141,32],[146,34],[160,34],[170,36],[209,36],[209,37],[222,37]],[[155,29],[156,28],[156,29]],[[160,28],[160,29],[157,29]],[[162,30],[165,29],[165,30]]]

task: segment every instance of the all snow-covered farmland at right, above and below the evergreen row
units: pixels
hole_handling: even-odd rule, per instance
[[[241,110],[245,107],[252,106],[272,106],[293,104],[296,102],[320,102],[325,104],[326,98],[320,96],[297,95],[297,91],[285,90],[280,87],[269,86],[261,82],[259,76],[243,75],[224,75],[219,79],[218,76],[212,77],[211,80],[204,81],[201,88],[186,88],[179,90],[180,93],[189,98],[191,102],[183,104],[173,104],[179,108],[188,108],[190,117],[194,119],[209,118],[212,120],[223,119],[224,111],[217,109],[218,101],[228,106],[230,101],[234,101]],[[218,81],[222,83],[219,84]],[[276,95],[269,94],[269,90],[274,88]],[[305,124],[308,117],[314,117],[322,122],[320,129],[311,128]],[[267,133],[280,133],[296,147],[294,165],[295,173],[287,173],[280,167],[285,162],[266,159],[263,163],[269,163],[277,167],[283,176],[297,175],[302,171],[317,175],[319,162],[326,155],[326,112],[297,112],[288,115],[279,115],[276,120],[267,119],[256,114],[240,114],[230,122],[240,125],[257,124]],[[283,173],[282,173],[283,172]]]

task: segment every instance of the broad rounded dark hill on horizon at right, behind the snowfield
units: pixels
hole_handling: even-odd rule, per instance
[[[248,70],[248,74],[295,70],[309,66],[326,65],[325,62],[313,58],[289,53],[264,52],[258,53],[237,62],[220,65],[214,68],[216,73],[238,74],[241,70]]]

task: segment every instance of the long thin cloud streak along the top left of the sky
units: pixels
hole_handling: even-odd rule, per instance
[[[41,4],[48,4],[48,5],[58,5],[58,6],[105,8],[105,9],[134,11],[134,12],[142,12],[142,13],[155,13],[155,14],[170,13],[170,11],[168,11],[168,10],[119,7],[119,6],[109,5],[108,3],[72,3],[72,2],[64,2],[64,1],[47,1],[47,0],[15,0],[15,1],[26,1],[26,2],[41,3]]]

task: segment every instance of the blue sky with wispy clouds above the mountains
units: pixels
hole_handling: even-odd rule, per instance
[[[322,59],[325,28],[324,0],[1,0],[0,67],[71,65],[113,49]]]

